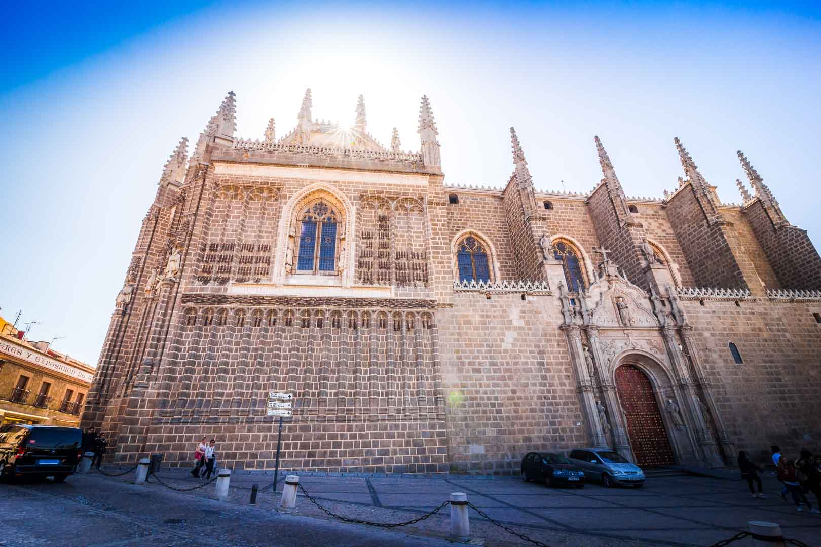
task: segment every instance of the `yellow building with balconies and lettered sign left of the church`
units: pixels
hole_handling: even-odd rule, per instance
[[[94,368],[48,342],[18,340],[10,327],[0,329],[0,425],[77,426]]]

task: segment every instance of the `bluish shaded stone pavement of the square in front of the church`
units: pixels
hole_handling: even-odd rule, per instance
[[[175,486],[199,483],[184,470],[159,475]],[[228,503],[213,499],[213,484],[177,493],[156,482],[131,485],[132,477],[94,473],[71,476],[64,485],[3,485],[11,495],[0,496],[0,510],[14,531],[0,535],[0,545],[448,545],[448,508],[383,531],[332,521],[302,495],[295,511],[277,513],[271,473],[235,472]],[[489,517],[552,546],[713,545],[750,520],[777,522],[786,537],[821,545],[821,516],[798,513],[778,498],[775,478],[763,478],[768,499],[752,499],[740,480],[700,476],[651,477],[640,490],[466,476],[303,475],[300,484],[333,512],[373,522],[419,517],[461,491]],[[249,505],[252,484],[259,485],[255,506]],[[524,545],[472,511],[470,528],[474,545]]]

